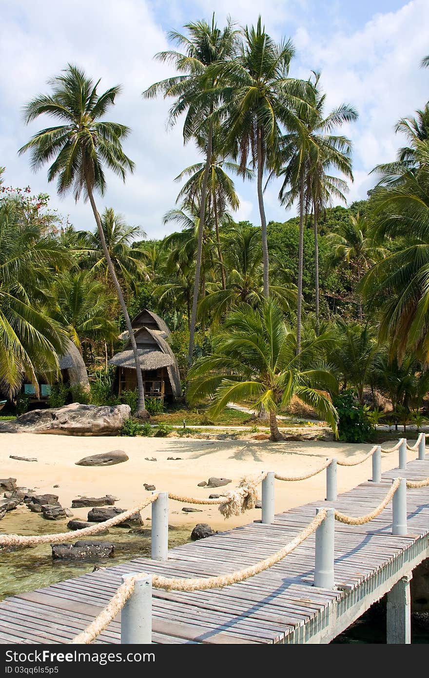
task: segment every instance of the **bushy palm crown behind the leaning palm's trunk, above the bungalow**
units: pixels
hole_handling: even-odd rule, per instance
[[[134,294],[137,292],[137,283],[146,277],[142,250],[131,247],[136,238],[146,237],[140,226],[129,226],[121,214],[115,214],[112,207],[106,207],[101,216],[104,239],[110,256],[110,261],[115,268],[115,273],[122,285],[130,288]],[[100,235],[81,231],[81,242],[88,257],[88,264],[94,273],[102,273],[108,276],[106,257],[102,249]]]

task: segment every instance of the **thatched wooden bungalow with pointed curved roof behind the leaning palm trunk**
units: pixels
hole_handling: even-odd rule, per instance
[[[176,356],[166,341],[170,334],[167,325],[159,315],[145,308],[131,321],[131,326],[140,359],[144,395],[176,400],[182,395],[182,386]],[[110,365],[118,368],[115,381],[119,394],[137,388],[136,365],[128,333],[123,332],[120,338],[126,342],[123,351],[109,360]]]

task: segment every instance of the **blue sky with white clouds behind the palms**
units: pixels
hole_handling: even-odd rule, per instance
[[[428,0],[0,0],[0,165],[6,167],[5,183],[49,193],[51,205],[75,228],[94,229],[89,203],[76,204],[72,195],[58,198],[46,170],[34,174],[28,155],[17,153],[37,129],[54,124],[39,119],[26,126],[22,106],[48,92],[47,79],[75,63],[102,79],[100,92],[121,83],[121,96],[106,119],[131,127],[124,149],[136,169],[125,185],[106,173],[108,190],[97,198],[98,210],[114,207],[148,237],[177,230],[163,224],[180,190],[174,179],[201,156],[192,143],[184,146],[180,122],[167,131],[171,102],[141,95],[172,73],[153,58],[173,47],[168,31],[211,20],[214,9],[219,26],[228,14],[245,25],[262,12],[266,31],[278,41],[291,38],[295,45],[290,75],[308,78],[310,71],[321,71],[327,111],[342,102],[359,111],[359,121],[342,132],[353,142],[348,203],[365,199],[375,182],[371,169],[394,159],[403,145],[394,133],[396,121],[413,115],[429,98],[429,70],[420,68],[429,54]],[[241,200],[237,220],[259,224],[255,182],[236,179],[235,184]],[[278,193],[274,181],[265,194],[268,220],[284,221],[294,214],[279,204]]]

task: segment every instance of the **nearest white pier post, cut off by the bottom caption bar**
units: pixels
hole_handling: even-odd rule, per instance
[[[126,582],[134,574],[123,574]],[[139,573],[140,574],[140,573]],[[121,645],[152,643],[152,576],[138,579],[121,610]]]

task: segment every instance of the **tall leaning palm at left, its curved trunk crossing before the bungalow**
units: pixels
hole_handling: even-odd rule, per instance
[[[121,285],[110,260],[100,214],[94,199],[94,191],[104,195],[106,190],[104,167],[113,170],[124,181],[127,170],[133,171],[134,163],[125,155],[122,148],[122,141],[127,138],[130,130],[125,125],[100,120],[115,103],[121,87],[119,85],[110,87],[98,95],[99,83],[100,80],[94,84],[81,68],[72,64],[68,64],[62,75],[49,80],[52,93],[37,96],[26,105],[24,109],[26,123],[46,114],[64,124],[37,132],[20,148],[19,153],[30,151],[31,164],[35,170],[54,160],[49,167],[47,178],[49,182],[57,178],[58,194],[64,195],[73,189],[76,201],[83,193],[84,199],[89,199],[91,203],[108,271],[125,317],[125,325],[134,352],[138,414],[147,416],[136,339]]]

